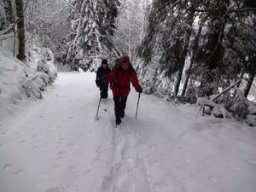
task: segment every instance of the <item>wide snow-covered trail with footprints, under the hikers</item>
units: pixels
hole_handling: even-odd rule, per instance
[[[0,123],[0,192],[255,192],[256,131],[154,96],[111,91],[94,119],[93,73],[59,73],[44,100]]]

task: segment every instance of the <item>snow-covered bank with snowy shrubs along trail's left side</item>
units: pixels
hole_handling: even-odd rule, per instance
[[[42,91],[56,78],[56,67],[49,49],[35,49],[29,61],[13,56],[12,40],[0,44],[0,119],[12,114],[27,96],[42,98]]]

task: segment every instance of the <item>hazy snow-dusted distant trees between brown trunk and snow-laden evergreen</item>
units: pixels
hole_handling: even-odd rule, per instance
[[[67,54],[67,34],[70,30],[70,8],[64,0],[25,0],[26,43],[51,49],[57,61]]]

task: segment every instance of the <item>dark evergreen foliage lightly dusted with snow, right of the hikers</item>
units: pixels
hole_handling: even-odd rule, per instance
[[[255,68],[255,11],[248,2],[154,0],[137,54],[145,66],[158,57],[154,65],[166,70],[166,76],[178,74],[174,94],[185,59],[193,55],[190,78],[201,83],[199,96],[211,96],[225,82]],[[196,39],[198,25],[203,30]],[[197,46],[191,44],[192,39],[198,41]]]

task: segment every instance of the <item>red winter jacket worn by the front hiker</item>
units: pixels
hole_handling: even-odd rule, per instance
[[[128,96],[131,90],[130,82],[138,91],[141,85],[138,83],[137,74],[131,63],[129,62],[129,67],[124,70],[121,67],[121,61],[118,67],[114,67],[111,73],[108,73],[106,81],[113,82],[112,92],[113,96]]]

